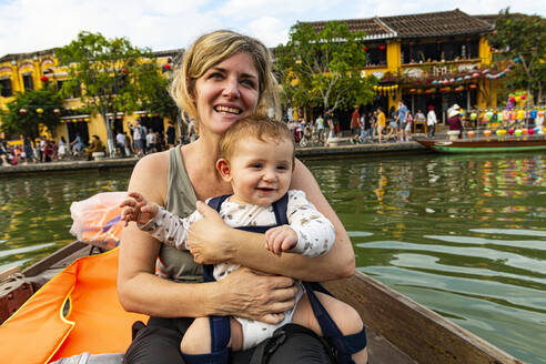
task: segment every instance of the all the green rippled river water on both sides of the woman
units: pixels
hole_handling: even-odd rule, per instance
[[[546,155],[306,161],[356,265],[528,363],[546,363]],[[130,170],[0,179],[0,271],[71,242],[70,204]]]

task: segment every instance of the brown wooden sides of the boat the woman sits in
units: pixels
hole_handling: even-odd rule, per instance
[[[0,287],[0,307],[3,301],[9,301],[12,303],[9,311],[16,311],[32,292],[58,276],[55,274],[72,266],[77,259],[85,260],[97,251],[89,244],[73,242],[27,267],[16,274],[18,279],[7,283],[8,286],[4,284]],[[351,279],[332,281],[324,285],[361,314],[366,325],[371,363],[523,363],[362,272],[356,272]],[[3,300],[8,296],[11,299]],[[4,318],[0,317],[1,321]],[[48,363],[50,358],[43,362]]]

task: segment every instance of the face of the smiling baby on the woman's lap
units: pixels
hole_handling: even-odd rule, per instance
[[[269,205],[289,190],[293,171],[293,144],[266,138],[265,142],[245,138],[230,159],[232,200],[244,204]]]

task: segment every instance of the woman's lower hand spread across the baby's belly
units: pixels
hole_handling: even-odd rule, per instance
[[[240,267],[218,282],[223,293],[221,307],[224,315],[277,324],[284,312],[295,304],[297,287],[292,279],[266,275],[247,267]]]

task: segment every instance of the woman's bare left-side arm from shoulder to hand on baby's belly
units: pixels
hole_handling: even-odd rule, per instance
[[[134,168],[129,191],[164,204],[168,152],[150,154]],[[239,270],[220,282],[185,284],[154,275],[161,244],[134,223],[123,230],[118,295],[127,311],[161,317],[239,315],[276,323],[294,305],[296,289],[282,276]]]

